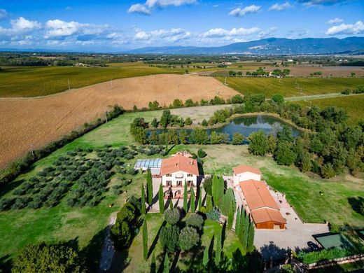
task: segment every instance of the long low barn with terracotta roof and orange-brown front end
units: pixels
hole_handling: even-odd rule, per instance
[[[252,179],[242,181],[239,183],[239,187],[255,228],[269,230],[283,230],[285,228],[286,221],[263,181]]]

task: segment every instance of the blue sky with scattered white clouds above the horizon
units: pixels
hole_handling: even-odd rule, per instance
[[[363,0],[0,0],[0,48],[123,51],[364,36]]]

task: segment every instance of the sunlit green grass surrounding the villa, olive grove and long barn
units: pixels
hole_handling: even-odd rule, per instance
[[[204,109],[209,107],[206,106]],[[186,117],[190,116],[188,110],[175,109],[174,113],[179,113],[181,116]],[[192,118],[200,120],[202,118],[200,112],[195,111]],[[109,123],[60,148],[47,158],[36,162],[29,173],[19,176],[14,182],[3,188],[1,196],[9,195],[10,190],[22,185],[22,183],[34,176],[36,172],[49,167],[59,156],[64,156],[67,152],[74,151],[75,148],[98,148],[104,147],[105,144],[110,144],[112,148],[117,148],[135,144],[128,130],[132,120],[138,116],[143,116],[150,122],[154,116],[159,117],[161,113],[161,111],[125,113],[123,116],[111,120]],[[204,113],[209,115],[207,110]],[[171,153],[185,148],[195,153],[201,147],[196,145],[175,146]],[[353,226],[360,226],[364,221],[363,216],[353,211],[348,202],[349,197],[364,195],[363,174],[360,174],[361,176],[358,178],[349,176],[349,174],[343,174],[335,179],[323,180],[319,179],[318,176],[302,174],[295,167],[278,166],[270,157],[250,155],[246,146],[208,145],[203,146],[203,149],[207,152],[207,158],[204,158],[205,173],[231,174],[231,168],[239,164],[259,167],[267,183],[276,190],[286,194],[288,201],[304,221],[349,223]],[[145,155],[137,156],[137,158],[141,157],[146,158]],[[134,162],[135,159],[128,160],[127,165],[133,165]],[[118,183],[119,178],[118,174],[112,176],[109,186]],[[141,174],[134,176],[132,183],[127,186],[127,194],[139,196],[140,183],[144,179],[145,177]],[[322,196],[319,194],[320,192],[323,193]],[[100,236],[102,237],[103,235],[102,232],[108,223],[109,216],[115,214],[120,209],[126,195],[116,196],[109,191],[106,192],[105,199],[96,207],[73,208],[66,205],[65,199],[68,195],[66,193],[60,204],[50,209],[43,207],[36,210],[27,208],[0,212],[0,236],[3,238],[0,246],[0,257],[12,258],[25,244],[31,242],[42,240],[51,242],[74,238],[78,239],[80,248],[91,249],[94,255],[96,255],[101,244]],[[113,203],[114,206],[109,208],[107,206],[109,203]],[[337,208],[340,209],[338,210]],[[87,223],[86,230],[85,223]],[[155,232],[155,227],[153,228],[152,224],[150,228],[151,232]],[[208,224],[206,228],[214,229],[216,227]],[[209,235],[209,237],[211,236]],[[140,243],[140,235],[136,240]],[[206,241],[208,241],[206,238],[202,238],[202,240],[202,244],[206,244]],[[132,260],[130,261],[130,267],[126,269],[128,272],[136,272],[138,271],[137,269],[143,270],[143,268],[146,268],[146,262],[138,263],[141,255],[140,248],[140,244],[132,244],[130,249],[130,258]]]

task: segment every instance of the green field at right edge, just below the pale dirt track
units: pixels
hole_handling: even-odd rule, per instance
[[[337,106],[343,108],[348,113],[349,124],[356,124],[364,118],[364,94],[356,96],[336,97],[327,99],[312,99],[309,101],[293,102],[302,106],[317,105],[321,108],[327,106]]]

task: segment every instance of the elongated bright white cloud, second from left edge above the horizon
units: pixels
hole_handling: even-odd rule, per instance
[[[45,33],[45,38],[50,37],[64,37],[72,35],[95,35],[104,33],[108,25],[93,25],[82,24],[79,22],[64,22],[59,19],[48,20],[45,23],[48,31]]]

